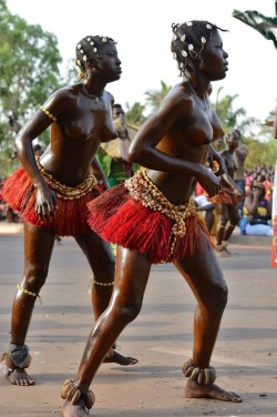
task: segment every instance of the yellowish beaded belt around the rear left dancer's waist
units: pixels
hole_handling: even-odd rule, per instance
[[[37,157],[37,165],[47,184],[55,192],[57,196],[62,200],[81,199],[83,195],[86,195],[98,183],[98,180],[91,170],[89,176],[81,184],[76,186],[68,186],[61,184],[51,174],[49,174],[40,164],[39,157]]]

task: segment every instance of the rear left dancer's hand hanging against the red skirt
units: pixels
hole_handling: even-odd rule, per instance
[[[38,186],[35,212],[43,222],[54,216],[59,208],[55,193],[47,184]]]

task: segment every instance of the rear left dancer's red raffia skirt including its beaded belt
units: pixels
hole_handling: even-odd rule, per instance
[[[38,161],[37,161],[38,162]],[[3,200],[18,212],[19,216],[34,226],[45,228],[59,236],[74,236],[91,233],[88,224],[88,203],[100,195],[95,177],[92,175],[76,187],[68,187],[55,181],[39,165],[48,185],[55,192],[59,210],[53,218],[41,221],[35,212],[37,189],[23,167],[14,171],[4,180]],[[51,181],[48,181],[50,179]],[[83,185],[84,184],[84,185]],[[70,196],[62,189],[70,192]],[[75,192],[74,192],[75,190]],[[80,193],[79,191],[82,190]],[[75,196],[72,196],[74,195]]]

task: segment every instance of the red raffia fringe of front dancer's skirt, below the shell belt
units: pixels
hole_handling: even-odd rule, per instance
[[[146,254],[153,264],[183,260],[213,247],[199,216],[186,220],[186,234],[176,240],[170,257],[173,221],[134,201],[124,184],[116,185],[89,203],[89,224],[105,241]]]

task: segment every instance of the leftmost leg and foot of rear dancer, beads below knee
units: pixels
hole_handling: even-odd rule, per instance
[[[48,276],[53,244],[52,233],[29,223],[24,224],[24,275],[13,301],[11,316],[11,344],[13,345],[24,345],[37,295]],[[11,384],[24,386],[34,384],[24,367],[13,369],[9,366],[7,353],[2,355],[0,369]]]

